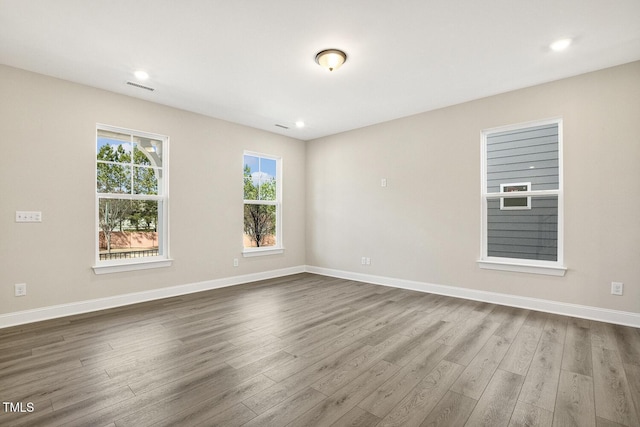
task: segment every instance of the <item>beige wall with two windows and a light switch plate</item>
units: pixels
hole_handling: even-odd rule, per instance
[[[97,122],[170,137],[172,267],[93,273]],[[305,263],[301,141],[0,66],[0,148],[0,314]],[[241,256],[245,149],[283,158],[284,255]]]

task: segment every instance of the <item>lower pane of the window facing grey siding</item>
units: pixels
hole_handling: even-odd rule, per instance
[[[501,210],[487,201],[488,255],[502,258],[558,260],[558,197],[532,197],[530,210]]]

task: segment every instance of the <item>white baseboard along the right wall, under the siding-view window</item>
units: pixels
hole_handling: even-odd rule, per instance
[[[392,277],[384,276],[374,276],[369,274],[334,270],[330,268],[314,267],[309,265],[306,267],[306,271],[309,273],[354,280],[357,282],[367,282],[376,285],[410,289],[413,291],[428,292],[432,294],[446,295],[474,301],[483,301],[493,304],[507,305],[510,307],[526,308],[530,310],[544,311],[546,313],[562,314],[565,316],[598,320],[600,322],[615,323],[618,325],[640,328],[640,313],[609,310],[605,308],[590,307],[585,305],[568,304],[538,298],[501,294],[497,292],[478,291],[475,289],[458,288],[455,286],[434,285],[425,282],[395,279]]]

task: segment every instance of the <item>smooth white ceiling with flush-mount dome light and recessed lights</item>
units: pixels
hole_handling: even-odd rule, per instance
[[[0,63],[301,140],[639,59],[640,0],[0,0]]]

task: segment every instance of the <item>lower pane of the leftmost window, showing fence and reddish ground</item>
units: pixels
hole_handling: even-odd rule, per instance
[[[161,255],[156,200],[98,200],[99,259],[142,258]]]

